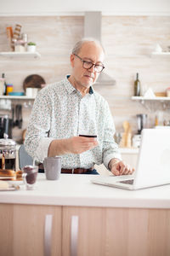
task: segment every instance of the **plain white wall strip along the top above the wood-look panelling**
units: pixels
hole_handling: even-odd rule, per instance
[[[103,15],[170,15],[170,0],[0,0],[0,15],[82,15],[102,11]],[[70,13],[72,12],[72,13]]]

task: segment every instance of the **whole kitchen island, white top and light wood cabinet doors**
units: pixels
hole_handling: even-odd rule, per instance
[[[127,191],[93,177],[38,174],[35,190],[1,192],[1,255],[170,255],[170,185]]]

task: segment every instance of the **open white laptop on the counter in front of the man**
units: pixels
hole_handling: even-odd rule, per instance
[[[143,129],[133,175],[99,176],[92,183],[120,189],[144,189],[170,183],[170,127]]]

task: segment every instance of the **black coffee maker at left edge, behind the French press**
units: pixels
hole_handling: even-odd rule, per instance
[[[13,120],[8,118],[8,115],[0,116],[0,138],[4,137],[4,133],[8,138],[12,138]]]

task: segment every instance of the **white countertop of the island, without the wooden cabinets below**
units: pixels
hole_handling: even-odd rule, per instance
[[[170,208],[170,185],[128,191],[91,183],[94,175],[61,174],[59,180],[48,181],[38,173],[34,190],[0,192],[0,203],[78,206]],[[117,177],[114,177],[117,178]]]

